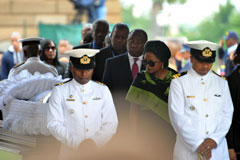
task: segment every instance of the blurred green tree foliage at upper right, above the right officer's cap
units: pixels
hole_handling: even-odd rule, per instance
[[[235,7],[228,0],[226,5],[220,5],[219,11],[204,19],[195,28],[181,27],[181,35],[189,40],[205,39],[218,43],[229,30],[240,33],[240,13],[236,14]]]

